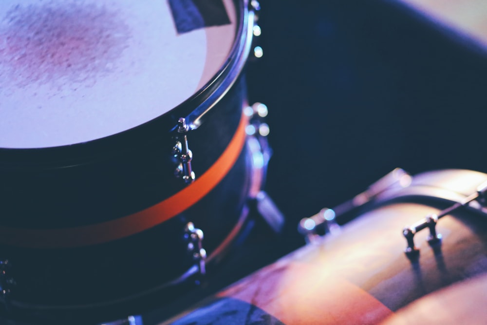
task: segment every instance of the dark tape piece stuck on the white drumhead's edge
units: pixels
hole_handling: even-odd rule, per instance
[[[223,0],[169,0],[179,34],[230,23]]]

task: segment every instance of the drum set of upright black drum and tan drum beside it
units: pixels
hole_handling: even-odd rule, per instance
[[[213,286],[249,233],[284,222],[243,74],[259,10],[0,4],[1,324],[486,319],[487,174],[467,170],[395,169],[303,218],[307,245]]]

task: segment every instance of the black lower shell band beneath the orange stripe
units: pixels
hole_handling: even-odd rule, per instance
[[[63,249],[2,246],[4,254],[11,256],[10,271],[16,281],[11,294],[14,305],[27,309],[37,309],[37,305],[54,310],[93,309],[120,299],[130,300],[133,295],[155,291],[177,279],[194,265],[184,236],[187,222],[203,230],[203,247],[208,254],[233,229],[242,227],[239,223],[246,216],[252,176],[248,159],[245,147],[224,180],[196,205],[127,238]]]

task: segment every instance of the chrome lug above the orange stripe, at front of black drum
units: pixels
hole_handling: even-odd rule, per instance
[[[192,183],[196,176],[191,168],[191,160],[193,159],[193,153],[189,150],[187,144],[187,132],[189,127],[186,124],[186,119],[181,117],[178,120],[177,125],[177,140],[172,148],[172,154],[177,158],[180,164],[176,167],[174,175],[183,179],[186,184]]]

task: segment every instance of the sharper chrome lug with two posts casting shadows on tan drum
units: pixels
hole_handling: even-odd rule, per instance
[[[406,238],[408,246],[404,250],[406,256],[410,260],[417,259],[419,256],[419,249],[414,246],[414,235],[425,228],[430,229],[430,235],[427,238],[428,244],[431,247],[441,244],[441,234],[436,232],[436,224],[438,220],[451,212],[467,206],[472,201],[478,201],[481,205],[485,205],[487,193],[487,182],[481,184],[477,191],[466,197],[461,202],[457,202],[445,210],[441,210],[438,214],[430,214],[424,219],[419,220],[410,227],[402,230],[403,236]]]

